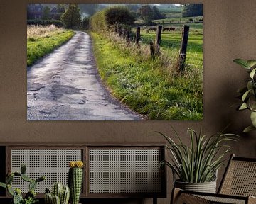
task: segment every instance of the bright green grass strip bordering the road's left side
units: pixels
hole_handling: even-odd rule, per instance
[[[47,53],[52,52],[56,47],[63,45],[70,40],[75,33],[73,30],[53,32],[46,36],[37,36],[27,39],[27,66],[31,66],[36,60]]]

